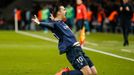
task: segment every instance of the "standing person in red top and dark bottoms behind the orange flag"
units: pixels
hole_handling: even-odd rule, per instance
[[[82,0],[77,0],[76,3],[76,31],[79,31],[84,26],[84,22],[87,21],[87,9]]]

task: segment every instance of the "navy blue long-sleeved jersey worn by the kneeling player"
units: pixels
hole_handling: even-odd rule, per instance
[[[41,22],[41,26],[46,26],[54,33],[54,36],[59,40],[60,54],[67,51],[67,48],[72,47],[76,38],[70,28],[63,21],[51,21],[50,23]]]

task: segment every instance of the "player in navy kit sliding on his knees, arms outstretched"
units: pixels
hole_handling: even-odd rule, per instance
[[[70,28],[63,22],[66,10],[64,6],[59,6],[55,10],[56,16],[51,15],[49,23],[40,22],[35,16],[32,20],[42,27],[48,27],[59,40],[60,54],[66,53],[68,61],[75,70],[63,69],[56,75],[96,75],[97,70],[92,61],[85,55],[79,42],[77,42]]]

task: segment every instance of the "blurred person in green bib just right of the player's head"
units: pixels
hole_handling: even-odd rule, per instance
[[[74,8],[71,5],[67,5],[66,7],[66,23],[70,29],[74,29]]]

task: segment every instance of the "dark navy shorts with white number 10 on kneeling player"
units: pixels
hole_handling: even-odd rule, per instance
[[[89,67],[93,66],[92,61],[85,55],[80,46],[68,49],[66,56],[73,68],[76,70],[80,70],[86,65],[89,65]]]

